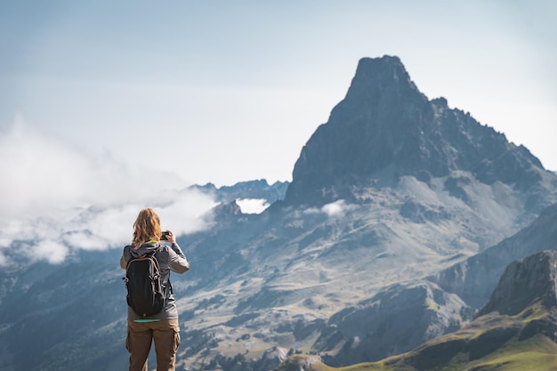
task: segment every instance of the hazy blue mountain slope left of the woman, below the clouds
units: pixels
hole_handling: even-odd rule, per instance
[[[85,252],[12,272],[0,305],[0,370],[125,369],[120,254]]]

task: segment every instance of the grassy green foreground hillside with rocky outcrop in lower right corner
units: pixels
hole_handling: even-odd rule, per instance
[[[344,371],[553,370],[557,364],[557,252],[510,264],[478,318],[415,351]],[[335,370],[296,356],[275,371]],[[297,368],[296,368],[297,367]]]

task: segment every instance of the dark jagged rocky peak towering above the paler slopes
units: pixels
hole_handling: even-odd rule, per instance
[[[403,175],[428,181],[455,170],[520,190],[536,187],[546,173],[537,157],[504,134],[449,109],[443,98],[429,101],[399,58],[366,58],[344,100],[303,147],[286,200],[351,201],[359,184],[391,183]],[[539,207],[535,199],[531,204]]]

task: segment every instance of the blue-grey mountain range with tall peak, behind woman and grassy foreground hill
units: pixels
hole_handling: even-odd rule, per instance
[[[210,229],[178,238],[191,270],[173,281],[177,370],[408,354],[487,328],[475,321],[512,307],[512,289],[489,300],[505,268],[556,249],[557,175],[470,113],[429,100],[393,56],[359,60],[291,182],[196,188],[221,204],[203,216]],[[272,205],[243,214],[240,198]],[[0,370],[125,369],[120,253],[2,270]]]

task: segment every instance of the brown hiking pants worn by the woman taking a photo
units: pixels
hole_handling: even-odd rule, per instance
[[[147,323],[127,321],[125,348],[130,352],[130,371],[147,371],[147,358],[153,341],[157,352],[157,371],[174,371],[176,351],[180,345],[178,319]]]

